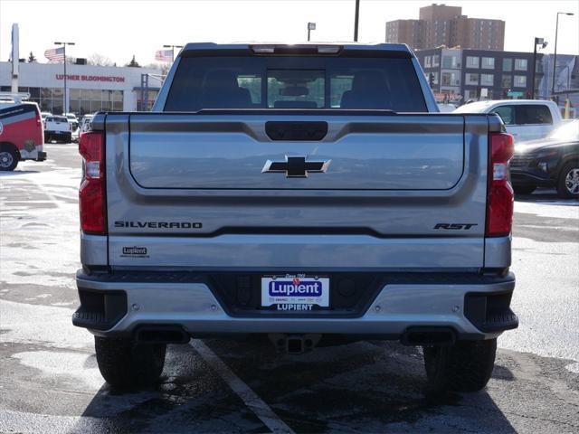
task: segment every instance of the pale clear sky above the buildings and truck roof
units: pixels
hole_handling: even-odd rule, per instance
[[[418,18],[432,1],[361,0],[360,42],[384,42],[385,22]],[[557,52],[579,54],[578,0],[463,0],[439,3],[462,6],[462,14],[507,22],[505,49],[533,51],[533,38]],[[10,55],[10,31],[20,24],[20,57],[43,52],[54,41],[73,41],[74,57],[100,53],[119,65],[133,54],[141,64],[154,61],[163,44],[207,41],[306,40],[308,21],[318,25],[312,41],[351,41],[354,0],[0,0],[0,60]]]

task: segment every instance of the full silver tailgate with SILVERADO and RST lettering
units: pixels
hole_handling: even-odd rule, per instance
[[[275,136],[268,122],[327,133]],[[110,266],[484,265],[486,115],[109,114],[105,125]],[[263,172],[291,156],[327,170]]]

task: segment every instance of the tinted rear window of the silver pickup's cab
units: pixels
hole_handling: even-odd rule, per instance
[[[411,59],[181,58],[165,111],[200,109],[427,111]]]

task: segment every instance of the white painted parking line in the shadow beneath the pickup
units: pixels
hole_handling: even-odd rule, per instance
[[[242,382],[242,379],[235,375],[203,341],[194,339],[191,341],[191,346],[195,348],[195,351],[219,374],[223,381],[242,399],[243,403],[255,413],[263,424],[271,429],[271,432],[295,434],[295,432],[271,410],[270,406],[263,402],[261,398],[252,391],[250,386]]]

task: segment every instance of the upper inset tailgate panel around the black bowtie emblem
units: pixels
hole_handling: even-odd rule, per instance
[[[133,115],[130,172],[144,188],[169,189],[447,190],[459,182],[463,118],[352,118]],[[276,139],[298,136],[298,126],[306,138],[316,128],[327,127],[327,134],[320,140]],[[268,160],[286,156],[329,161],[327,173],[261,173]]]

